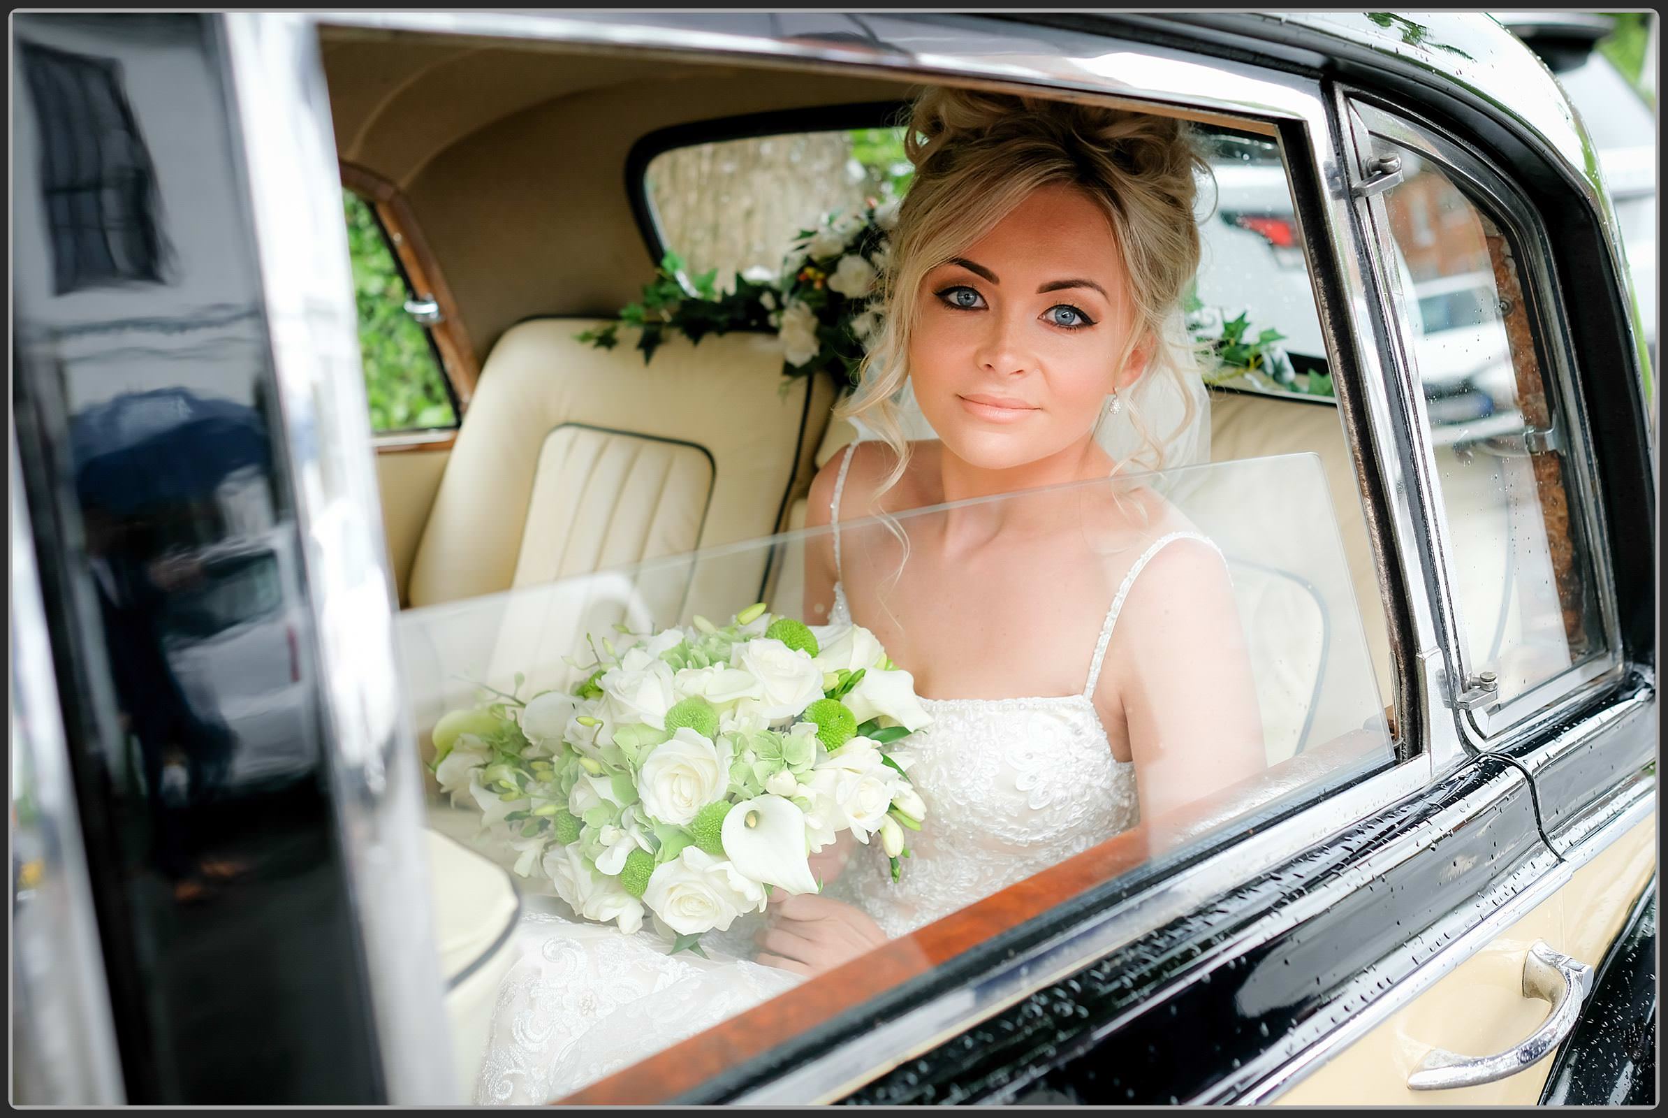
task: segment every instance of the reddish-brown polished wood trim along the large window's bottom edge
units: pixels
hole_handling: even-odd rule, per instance
[[[704,1033],[627,1065],[579,1091],[552,1100],[562,1106],[664,1106],[701,1085],[762,1056],[784,1038],[799,1036],[857,1010],[886,991],[932,971],[964,951],[1036,919],[1091,889],[1201,838],[1214,826],[1243,818],[1283,794],[1283,779],[1304,784],[1313,769],[1339,773],[1384,754],[1384,738],[1353,731],[1304,751],[1273,769],[1156,821],[1141,821],[1098,846],[1017,881],[926,928],[807,978],[776,998],[719,1021]],[[1388,756],[1388,754],[1384,754]],[[1273,796],[1271,796],[1273,793]],[[996,1010],[992,1008],[992,1013]]]

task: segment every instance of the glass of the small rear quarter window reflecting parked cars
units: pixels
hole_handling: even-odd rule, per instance
[[[1508,703],[1601,646],[1570,419],[1521,247],[1438,164],[1389,145],[1384,194],[1446,509],[1466,671]],[[1470,681],[1468,681],[1470,682]]]

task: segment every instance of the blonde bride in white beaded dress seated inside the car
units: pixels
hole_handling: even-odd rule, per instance
[[[906,137],[884,327],[844,407],[877,437],[811,487],[809,524],[832,527],[806,619],[861,624],[912,669],[927,828],[899,884],[877,844],[812,854],[827,888],[777,894],[752,959],[527,918],[477,1101],[565,1095],[1264,764],[1214,544],[1149,487],[1069,484],[1164,466],[1146,400],[1204,424],[1186,127],[932,88]],[[909,395],[936,439],[904,437]],[[1108,424],[1139,447],[1114,461]],[[1017,491],[1042,492],[976,501]]]

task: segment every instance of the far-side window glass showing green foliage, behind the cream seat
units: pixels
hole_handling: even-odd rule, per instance
[[[415,295],[387,230],[370,204],[352,190],[342,190],[342,215],[354,265],[370,429],[382,434],[455,427],[457,410],[440,355],[429,330],[407,309],[407,304],[415,304]]]

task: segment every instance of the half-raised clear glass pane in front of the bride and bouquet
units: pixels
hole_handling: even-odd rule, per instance
[[[1014,517],[1083,531],[1046,556],[986,551],[987,592],[946,591],[946,527]],[[846,521],[837,596],[816,581],[832,546],[829,529],[801,531],[399,616],[429,826],[510,868],[542,913],[499,1000],[482,1091],[549,1101],[771,996],[792,1040],[829,991],[799,996],[792,973],[759,963],[774,924],[736,874],[814,893],[806,844],[841,828],[866,838],[844,866],[817,866],[824,898],[876,921],[896,973],[926,974],[939,959],[907,936],[932,924],[976,946],[989,931],[957,913],[1014,881],[1089,848],[1114,876],[1166,873],[1393,763],[1311,454]],[[767,581],[749,609],[771,556],[802,576]],[[1221,609],[1161,641],[1143,581],[1173,564]],[[1009,621],[1051,621],[992,639],[994,599]],[[1138,644],[1154,674],[1131,672]],[[1086,697],[1098,664],[1128,713],[1106,731]],[[1219,724],[1169,748],[1179,768],[1116,761],[1128,726],[1179,726],[1183,709]],[[1188,756],[1208,764],[1188,776]],[[1164,806],[1143,818],[1143,803]],[[1036,914],[1066,899],[1056,889],[1032,889]],[[656,993],[674,980],[681,998]],[[877,993],[854,983],[842,1008]],[[642,998],[642,1015],[587,1030],[595,998]]]

